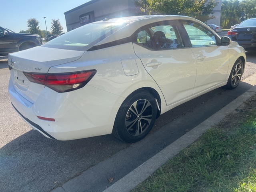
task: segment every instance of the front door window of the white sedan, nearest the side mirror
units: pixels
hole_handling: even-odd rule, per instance
[[[194,22],[184,21],[182,23],[188,33],[192,47],[216,45],[215,35],[207,28]]]

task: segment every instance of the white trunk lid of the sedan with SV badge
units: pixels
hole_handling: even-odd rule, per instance
[[[44,89],[44,85],[30,82],[23,72],[47,73],[50,67],[77,60],[82,54],[84,51],[39,46],[9,54],[10,81],[18,94],[34,103]]]

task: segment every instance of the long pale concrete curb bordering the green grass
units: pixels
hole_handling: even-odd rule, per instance
[[[252,77],[254,80],[256,76]],[[244,94],[236,98],[230,104],[219,110],[214,115],[210,116],[207,120],[196,126],[190,132],[186,133],[178,140],[161,150],[158,154],[144,162],[138,168],[124,176],[122,179],[115,182],[112,186],[104,190],[104,192],[130,192],[144,180],[146,180],[151,174],[153,174],[158,168],[164,165],[169,159],[173,158],[180,150],[183,150],[190,144],[192,144],[197,138],[199,138],[206,130],[210,129],[215,124],[218,124],[228,114],[233,112],[246,100],[256,94],[256,86],[250,88]]]

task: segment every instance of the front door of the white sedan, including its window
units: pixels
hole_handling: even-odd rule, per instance
[[[229,51],[221,46],[215,35],[196,22],[182,22],[188,33],[191,50],[197,61],[194,94],[226,81]]]

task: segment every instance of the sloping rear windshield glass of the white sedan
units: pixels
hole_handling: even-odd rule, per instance
[[[86,50],[110,36],[127,23],[90,23],[50,40],[43,46],[70,50]]]

